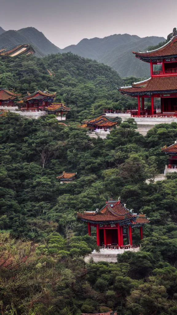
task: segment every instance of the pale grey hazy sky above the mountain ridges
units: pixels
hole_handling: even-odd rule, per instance
[[[64,48],[83,38],[113,34],[163,36],[177,27],[171,0],[0,0],[0,26],[33,26]],[[173,15],[174,13],[174,15]]]

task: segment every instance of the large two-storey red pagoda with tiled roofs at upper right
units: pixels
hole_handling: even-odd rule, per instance
[[[151,77],[132,86],[122,87],[122,94],[138,98],[137,115],[158,115],[159,117],[177,117],[177,36],[173,36],[162,47],[134,52],[135,57],[150,64]],[[145,98],[151,100],[151,112],[144,107]],[[161,108],[154,109],[154,99],[160,98]],[[137,117],[136,115],[136,117]]]

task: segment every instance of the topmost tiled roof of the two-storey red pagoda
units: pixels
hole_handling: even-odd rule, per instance
[[[160,48],[146,51],[146,52],[134,52],[135,56],[138,59],[141,59],[146,62],[151,60],[156,62],[162,59],[176,58],[177,57],[177,36],[172,37],[168,43],[163,45]]]

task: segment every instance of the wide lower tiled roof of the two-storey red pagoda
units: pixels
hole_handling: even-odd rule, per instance
[[[152,77],[147,80],[133,83],[132,86],[119,89],[122,94],[130,96],[151,95],[151,93],[176,93],[177,76]]]

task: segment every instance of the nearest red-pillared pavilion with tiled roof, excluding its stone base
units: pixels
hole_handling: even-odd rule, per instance
[[[105,248],[121,248],[124,239],[128,239],[129,246],[133,245],[132,228],[140,228],[140,236],[143,238],[143,225],[149,222],[146,215],[133,214],[126,208],[126,204],[120,200],[107,201],[106,205],[96,211],[77,213],[77,217],[88,223],[88,235],[91,236],[91,226],[96,227],[97,245],[105,245]],[[127,246],[128,246],[127,245]]]

